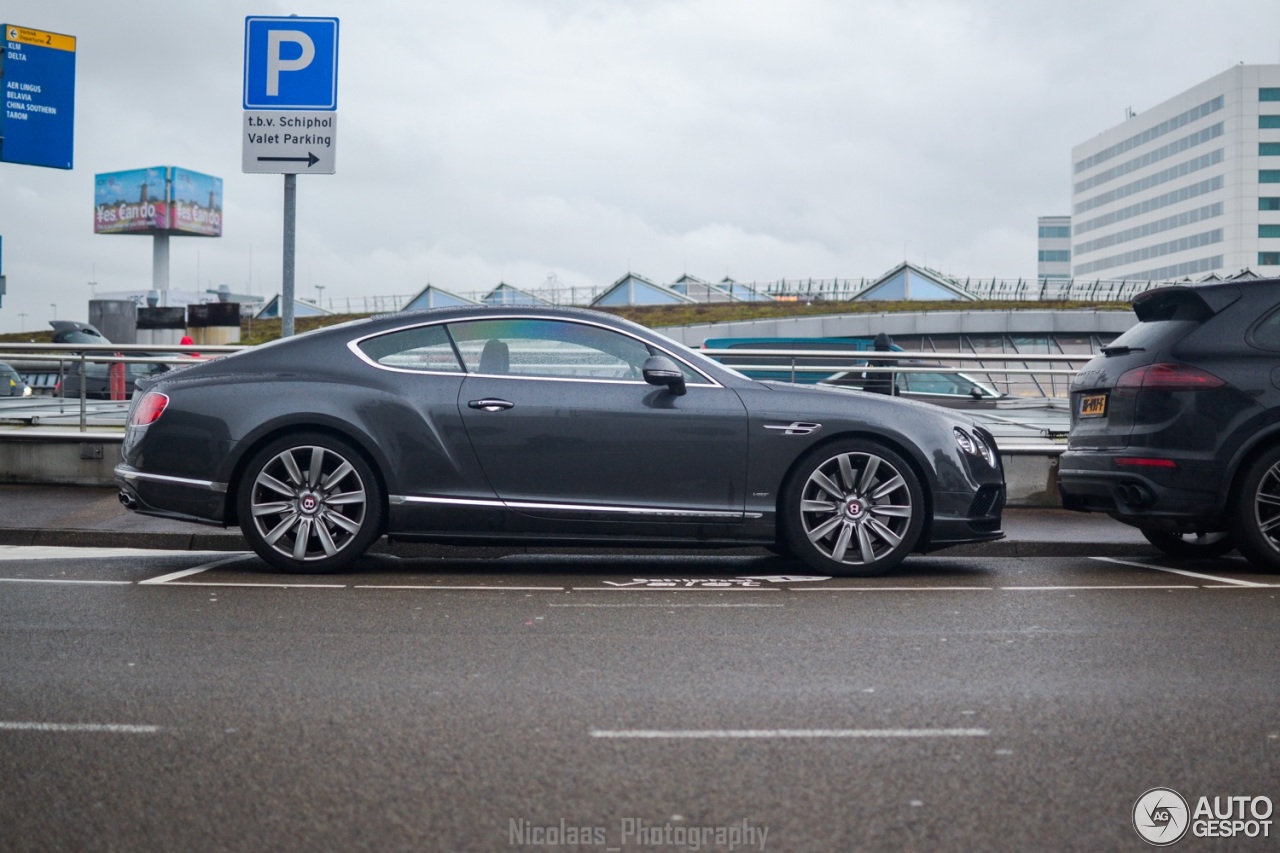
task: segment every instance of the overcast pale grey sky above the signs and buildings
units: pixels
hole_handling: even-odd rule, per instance
[[[150,238],[93,234],[100,172],[224,178],[223,237],[172,240],[172,287],[279,292],[284,179],[241,173],[251,14],[340,19],[303,298],[904,259],[1033,277],[1073,145],[1280,61],[1276,0],[5,0],[78,44],[76,168],[0,164],[0,330],[86,319],[90,280],[150,286]]]

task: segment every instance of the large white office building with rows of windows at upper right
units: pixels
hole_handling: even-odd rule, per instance
[[[1071,182],[1076,279],[1280,275],[1280,65],[1130,111],[1071,149]]]

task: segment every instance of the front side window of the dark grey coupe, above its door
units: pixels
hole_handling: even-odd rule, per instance
[[[641,380],[653,350],[589,323],[495,319],[449,324],[468,373]]]

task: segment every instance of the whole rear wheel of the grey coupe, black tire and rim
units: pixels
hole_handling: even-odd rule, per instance
[[[383,525],[383,493],[365,459],[321,433],[284,435],[250,460],[237,496],[241,530],[276,569],[324,574],[353,564]]]

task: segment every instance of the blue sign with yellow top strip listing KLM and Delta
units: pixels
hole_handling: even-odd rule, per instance
[[[76,136],[76,36],[0,24],[0,163],[70,169]]]

